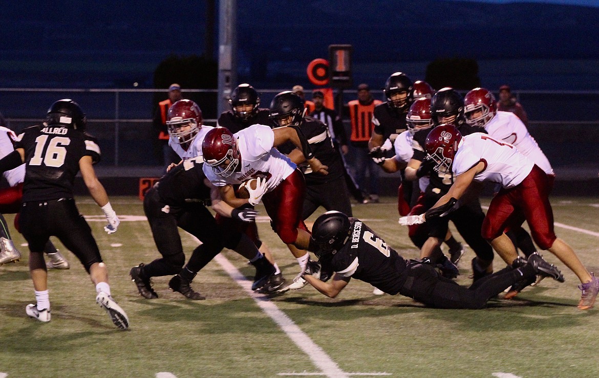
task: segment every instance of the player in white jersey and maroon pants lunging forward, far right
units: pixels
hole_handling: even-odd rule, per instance
[[[482,236],[508,264],[518,260],[516,248],[504,230],[518,226],[520,214],[541,249],[549,249],[578,276],[582,290],[578,308],[590,309],[599,292],[599,279],[586,270],[564,240],[553,231],[553,211],[549,203],[550,180],[547,174],[516,148],[492,136],[473,133],[464,136],[450,125],[432,129],[426,137],[426,151],[435,160],[435,170],[456,176],[447,194],[421,216],[403,218],[404,224],[422,222],[450,211],[474,182],[492,181],[501,190],[491,200],[482,227]],[[521,209],[521,212],[514,211]]]

